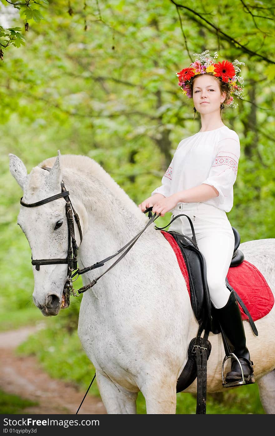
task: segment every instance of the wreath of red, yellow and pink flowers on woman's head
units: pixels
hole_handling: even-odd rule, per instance
[[[230,98],[226,102],[226,106],[238,107],[238,103],[234,102],[233,95],[236,95],[239,99],[244,98],[243,76],[237,75],[241,71],[238,65],[245,65],[244,62],[239,62],[237,59],[234,62],[222,61],[215,62],[218,54],[215,51],[214,56],[211,57],[209,50],[203,51],[203,53],[194,53],[196,56],[194,62],[190,64],[188,68],[183,68],[177,77],[179,78],[178,85],[183,90],[183,94],[187,95],[189,99],[191,95],[191,83],[193,78],[198,74],[213,73],[214,76],[220,77],[225,83],[228,83],[230,89]],[[238,82],[238,83],[237,83]]]

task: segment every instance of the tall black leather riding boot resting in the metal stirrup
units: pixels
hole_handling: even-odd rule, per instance
[[[217,319],[221,324],[227,339],[231,344],[231,352],[233,352],[241,362],[241,367],[244,372],[244,380],[246,383],[255,383],[253,375],[253,362],[250,360],[250,354],[246,347],[246,339],[244,333],[244,324],[241,319],[241,311],[233,292],[230,293],[229,299],[224,307],[215,309]],[[231,371],[225,377],[226,383],[241,381],[241,368],[238,361],[231,359]]]

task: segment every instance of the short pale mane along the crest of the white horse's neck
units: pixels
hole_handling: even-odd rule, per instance
[[[53,167],[56,157],[49,157],[43,160],[38,167]],[[108,191],[115,195],[116,199],[135,215],[140,221],[140,211],[136,204],[129,197],[128,194],[114,181],[114,179],[104,170],[104,168],[98,164],[91,157],[78,155],[78,154],[63,154],[60,156],[61,171],[62,170],[74,170],[88,178],[92,178],[98,181],[100,184],[104,184]],[[67,172],[67,171],[66,171]],[[68,174],[70,171],[68,171]],[[144,218],[145,215],[144,215]]]

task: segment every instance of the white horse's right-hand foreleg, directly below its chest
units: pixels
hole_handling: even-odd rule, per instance
[[[146,401],[147,415],[176,413],[176,385],[177,380],[169,377],[145,381],[140,390]]]

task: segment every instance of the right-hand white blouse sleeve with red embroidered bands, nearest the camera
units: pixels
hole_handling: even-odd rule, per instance
[[[236,138],[225,138],[218,142],[217,155],[210,173],[202,183],[214,186],[219,191],[217,196],[219,204],[222,204],[230,194],[236,181],[240,154],[240,141],[237,134]]]

